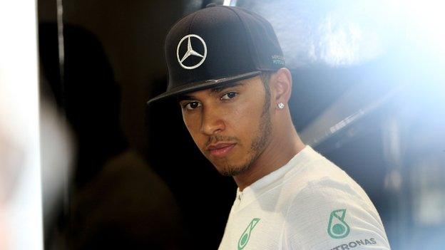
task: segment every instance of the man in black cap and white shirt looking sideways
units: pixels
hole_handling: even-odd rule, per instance
[[[292,76],[272,26],[208,6],[165,41],[168,90],[203,155],[238,186],[219,249],[389,249],[359,185],[305,146],[287,103]]]

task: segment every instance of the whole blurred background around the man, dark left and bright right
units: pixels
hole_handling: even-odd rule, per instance
[[[168,28],[212,2],[272,23],[297,132],[363,187],[392,249],[444,249],[445,18],[434,0],[38,0],[36,33],[20,41],[38,37],[39,122],[11,116],[29,118],[8,102],[24,89],[0,78],[0,249],[3,229],[26,224],[2,219],[31,206],[11,191],[26,176],[41,178],[43,230],[32,234],[43,249],[218,249],[235,182],[200,154],[176,103],[145,104],[166,88]],[[40,133],[17,125],[34,123]]]

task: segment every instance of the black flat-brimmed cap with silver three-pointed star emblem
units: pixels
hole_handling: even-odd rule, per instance
[[[165,59],[167,90],[148,104],[285,66],[280,43],[266,19],[240,7],[214,4],[170,28]]]

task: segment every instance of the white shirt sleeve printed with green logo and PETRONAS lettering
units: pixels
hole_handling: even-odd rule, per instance
[[[282,249],[390,249],[374,204],[358,184],[310,183],[290,202]]]

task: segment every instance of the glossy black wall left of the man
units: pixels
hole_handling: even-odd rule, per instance
[[[46,249],[218,248],[235,184],[200,154],[175,103],[145,104],[165,90],[168,28],[205,4],[63,1],[61,63],[56,1],[39,1],[41,94],[76,142]]]

